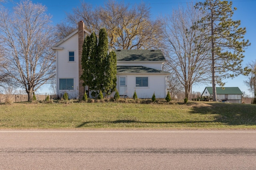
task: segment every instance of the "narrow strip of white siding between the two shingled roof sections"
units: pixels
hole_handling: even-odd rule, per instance
[[[152,69],[162,70],[162,63],[153,63],[153,62],[118,62],[117,65],[122,66],[144,66]]]

